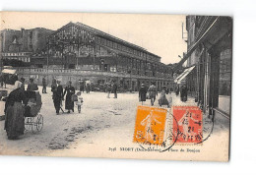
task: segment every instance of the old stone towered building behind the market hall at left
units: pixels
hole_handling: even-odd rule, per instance
[[[1,64],[13,67],[30,67],[33,53],[46,46],[50,29],[1,30]]]

